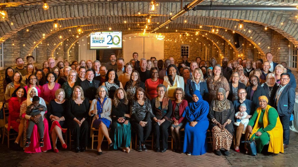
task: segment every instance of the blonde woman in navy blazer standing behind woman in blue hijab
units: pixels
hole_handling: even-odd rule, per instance
[[[187,80],[186,83],[185,94],[188,102],[192,101],[192,95],[195,90],[199,90],[203,99],[208,100],[207,82],[204,80],[203,73],[199,68],[193,70],[192,78]]]

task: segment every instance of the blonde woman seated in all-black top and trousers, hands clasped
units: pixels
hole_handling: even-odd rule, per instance
[[[83,89],[80,86],[74,86],[72,98],[69,99],[66,108],[66,122],[74,139],[75,152],[84,152],[88,143],[89,125],[85,120],[88,117],[89,99],[84,97]]]

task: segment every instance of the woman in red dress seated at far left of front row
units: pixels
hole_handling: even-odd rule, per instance
[[[27,93],[25,88],[19,86],[12,94],[12,97],[8,103],[8,127],[7,130],[10,130],[10,126],[13,127],[13,130],[18,132],[18,137],[15,139],[15,144],[19,144],[20,138],[24,131],[24,119],[20,119],[20,109],[21,104],[26,100]]]

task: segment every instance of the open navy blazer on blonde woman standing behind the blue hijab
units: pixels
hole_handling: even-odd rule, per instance
[[[188,79],[186,82],[186,86],[185,86],[185,96],[187,98],[188,102],[192,102],[192,98],[193,98],[193,92],[195,91],[195,83],[191,82],[191,79]],[[203,100],[208,100],[208,88],[207,88],[207,82],[201,82],[200,83],[200,93],[201,96],[203,97]]]

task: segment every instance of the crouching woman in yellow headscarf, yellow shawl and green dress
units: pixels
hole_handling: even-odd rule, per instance
[[[275,108],[267,104],[266,96],[260,96],[259,103],[260,107],[254,111],[247,126],[249,138],[254,138],[256,141],[258,153],[267,144],[269,144],[268,152],[283,153],[283,126],[278,113]]]

